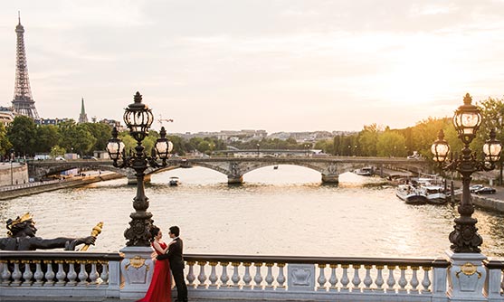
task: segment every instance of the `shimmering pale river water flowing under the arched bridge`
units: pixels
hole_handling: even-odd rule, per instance
[[[170,176],[181,185],[169,186]],[[340,175],[321,185],[304,167],[271,166],[229,186],[226,176],[204,168],[152,176],[149,211],[167,233],[181,228],[185,253],[340,257],[436,257],[450,246],[458,214],[452,205],[405,204],[392,187],[363,186],[376,178]],[[37,235],[80,237],[104,222],[94,251],[124,247],[136,186],[126,179],[0,201],[0,223],[32,212]],[[482,252],[504,257],[504,215],[477,210]],[[4,229],[5,230],[5,229]],[[6,231],[6,230],[5,230]]]

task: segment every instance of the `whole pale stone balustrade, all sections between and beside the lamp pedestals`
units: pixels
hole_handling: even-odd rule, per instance
[[[0,297],[120,297],[119,253],[0,251]],[[443,259],[185,255],[194,299],[450,301]],[[481,301],[504,301],[486,260]],[[147,290],[147,288],[146,288]]]

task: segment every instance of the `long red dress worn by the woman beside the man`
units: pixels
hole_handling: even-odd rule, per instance
[[[161,249],[166,249],[165,242],[159,243],[159,246],[161,246]],[[154,248],[154,245],[152,247]],[[157,255],[162,254],[160,250],[156,250],[156,252]],[[170,282],[170,263],[168,260],[156,260],[146,296],[137,302],[171,302],[172,289]]]

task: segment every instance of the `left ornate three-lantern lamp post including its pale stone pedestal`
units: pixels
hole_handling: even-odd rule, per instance
[[[121,298],[138,298],[145,294],[148,282],[152,278],[153,261],[151,260],[152,248],[150,247],[150,228],[152,226],[152,213],[147,212],[148,198],[145,194],[144,176],[147,166],[166,166],[168,153],[172,149],[172,143],[166,139],[165,127],[161,127],[160,138],[152,150],[152,155],[147,156],[142,146],[142,141],[148,136],[148,128],[152,125],[153,115],[147,105],[142,104],[142,96],[135,94],[135,101],[129,104],[124,112],[124,122],[129,129],[129,135],[137,140],[135,152],[126,155],[124,143],[118,138],[116,127],[112,130],[112,138],[107,144],[107,151],[114,161],[114,166],[119,168],[132,168],[137,176],[137,195],[133,199],[133,208],[129,217],[129,227],[124,231],[124,237],[128,240],[126,247],[120,251],[124,253],[120,269],[125,277],[124,288],[121,289]],[[157,162],[157,156],[161,163]]]

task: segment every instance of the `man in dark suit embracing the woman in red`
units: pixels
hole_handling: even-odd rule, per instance
[[[177,226],[172,226],[169,229],[168,235],[175,243],[171,244],[165,255],[157,256],[157,260],[170,260],[170,269],[176,285],[176,301],[187,302],[187,286],[184,279],[184,258],[182,251],[184,242],[180,237],[180,229]]]

